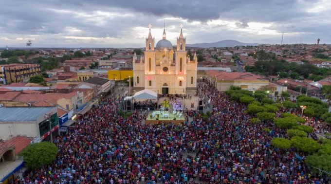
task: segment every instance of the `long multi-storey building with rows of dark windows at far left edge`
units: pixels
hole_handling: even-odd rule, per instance
[[[29,82],[30,77],[41,75],[40,65],[9,64],[0,65],[0,85],[12,82]]]

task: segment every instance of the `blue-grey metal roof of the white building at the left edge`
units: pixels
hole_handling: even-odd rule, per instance
[[[37,121],[54,107],[0,107],[1,121]]]

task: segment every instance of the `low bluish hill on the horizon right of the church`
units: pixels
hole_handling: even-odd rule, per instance
[[[214,43],[195,43],[186,44],[187,47],[200,47],[200,48],[212,48],[212,47],[235,47],[235,46],[257,46],[258,43],[242,43],[237,40],[222,40]]]

